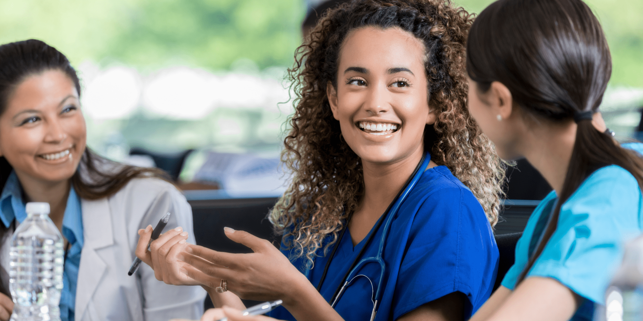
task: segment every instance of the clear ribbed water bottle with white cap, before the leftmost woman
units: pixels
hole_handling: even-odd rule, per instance
[[[59,321],[62,236],[49,218],[48,203],[27,203],[26,211],[27,218],[11,238],[11,320]]]

